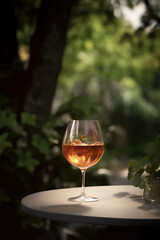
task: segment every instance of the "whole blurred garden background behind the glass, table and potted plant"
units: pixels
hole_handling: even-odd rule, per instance
[[[102,127],[105,152],[86,185],[129,184],[128,161],[160,133],[160,2],[5,0],[0,11],[2,239],[81,239],[26,216],[20,200],[80,186],[61,152],[69,119]]]

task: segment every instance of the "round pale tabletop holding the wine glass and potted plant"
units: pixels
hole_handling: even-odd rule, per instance
[[[130,185],[86,187],[97,202],[73,203],[67,199],[80,188],[38,192],[24,197],[22,210],[28,214],[66,222],[107,225],[159,225],[160,205],[144,202],[143,190]]]

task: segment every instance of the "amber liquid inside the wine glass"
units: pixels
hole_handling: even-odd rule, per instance
[[[95,165],[101,159],[104,144],[63,144],[62,152],[68,162],[83,170]]]

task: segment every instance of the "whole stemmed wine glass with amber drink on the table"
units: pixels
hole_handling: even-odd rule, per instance
[[[63,138],[62,152],[66,160],[78,167],[82,173],[81,194],[68,200],[97,201],[98,198],[89,197],[85,193],[85,173],[87,168],[95,165],[101,159],[104,152],[99,122],[97,120],[70,120]]]

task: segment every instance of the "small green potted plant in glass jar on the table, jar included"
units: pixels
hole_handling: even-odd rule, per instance
[[[146,202],[160,204],[160,135],[147,144],[145,156],[128,163],[128,179],[143,188]]]

